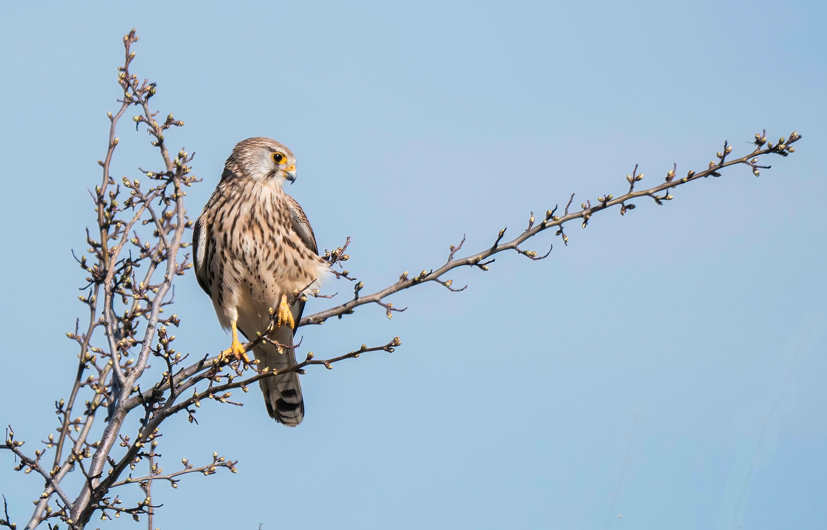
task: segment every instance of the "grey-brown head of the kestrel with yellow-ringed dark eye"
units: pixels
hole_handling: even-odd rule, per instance
[[[224,165],[229,178],[270,181],[281,186],[296,179],[296,157],[287,147],[270,138],[247,138],[238,142]],[[229,173],[227,174],[229,170]],[[224,178],[222,176],[222,178]]]

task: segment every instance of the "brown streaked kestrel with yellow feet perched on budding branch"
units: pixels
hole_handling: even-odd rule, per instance
[[[213,299],[218,322],[232,331],[222,360],[248,360],[237,332],[256,337],[270,324],[273,308],[277,325],[267,338],[277,345],[262,341],[253,348],[258,368],[279,371],[296,364],[293,335],[304,302],[291,307],[288,298],[318,287],[329,270],[308,218],[284,193],[284,181],[295,179],[296,159],[287,147],[270,138],[241,141],[195,223],[195,276]],[[265,377],[260,384],[271,418],[288,427],[302,422],[298,374]]]

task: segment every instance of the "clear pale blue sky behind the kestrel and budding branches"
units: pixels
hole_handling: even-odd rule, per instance
[[[305,327],[299,355],[403,346],[309,370],[296,429],[257,387],[166,423],[166,470],[218,451],[238,474],[155,485],[155,526],[822,528],[825,23],[823,2],[2,2],[0,424],[34,451],[68,397],[64,333],[85,314],[70,251],[135,26],[133,71],[186,122],[168,143],[197,153],[190,215],[237,141],[274,137],[319,246],[351,236],[366,292],[442,265],[463,234],[479,251],[570,193],[621,193],[635,164],[651,185],[724,140],[741,155],[763,128],[804,136],[758,179],[729,170],[572,223],[567,247],[540,236],[527,248],[553,242],[547,260],[457,270],[461,294]],[[117,178],[160,167],[129,116]],[[192,275],[175,294],[179,350],[226,348]],[[12,466],[0,453],[22,525],[42,482]],[[99,525],[145,525],[124,519]]]

